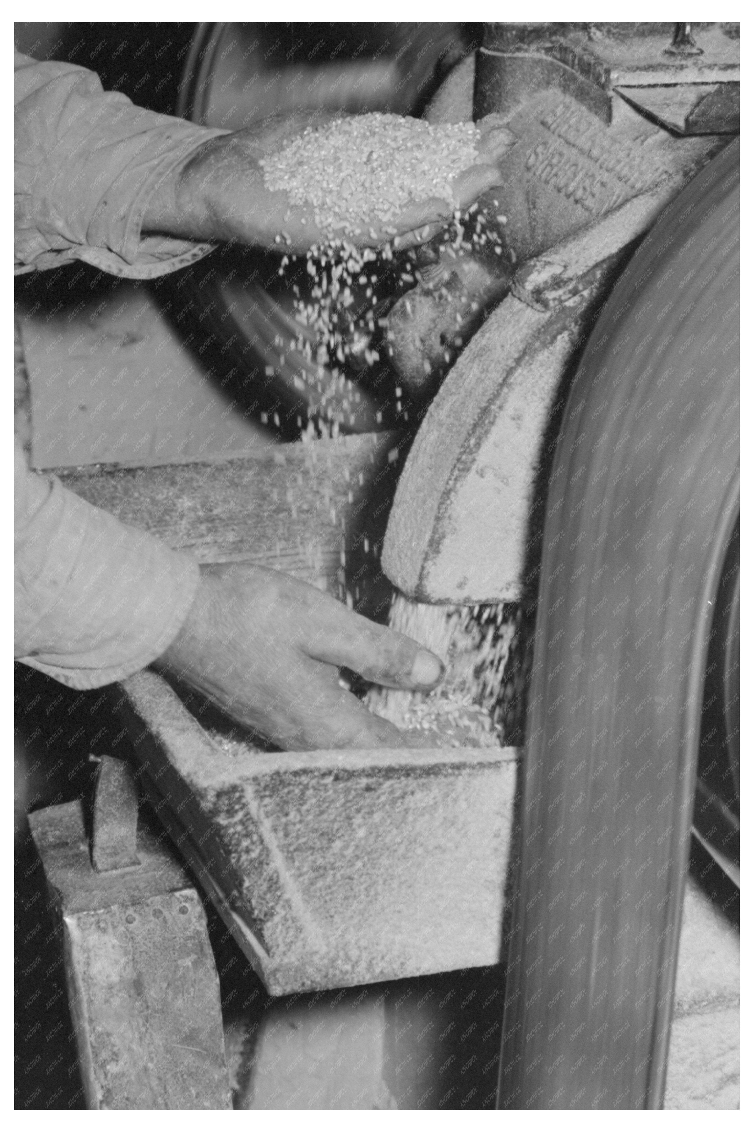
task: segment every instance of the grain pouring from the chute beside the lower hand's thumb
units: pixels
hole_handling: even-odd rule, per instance
[[[389,627],[446,664],[443,684],[425,695],[372,686],[365,703],[401,730],[421,730],[449,747],[500,747],[496,721],[515,623],[504,604],[428,606],[397,594]]]

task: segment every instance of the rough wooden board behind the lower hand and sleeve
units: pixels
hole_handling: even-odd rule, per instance
[[[259,456],[158,468],[60,469],[66,487],[199,561],[284,571],[354,603],[389,593],[379,544],[403,435],[271,445]]]

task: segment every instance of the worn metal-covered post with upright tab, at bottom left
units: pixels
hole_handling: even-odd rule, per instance
[[[28,815],[61,931],[86,1107],[228,1109],[220,981],[203,902],[147,829],[139,830],[138,865],[113,865],[135,857],[127,847],[136,803],[129,765],[102,763],[92,848],[80,800]],[[126,804],[110,824],[118,797]],[[92,868],[95,849],[108,871]]]

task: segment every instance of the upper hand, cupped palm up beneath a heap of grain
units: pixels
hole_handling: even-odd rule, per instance
[[[324,126],[336,117],[343,115],[319,114],[316,122]],[[259,164],[308,125],[311,115],[289,114],[213,138],[161,183],[147,207],[144,230],[265,248],[282,240],[294,252],[320,242],[328,233],[316,225],[312,209],[292,204],[283,190],[267,189]],[[349,239],[360,246],[396,242],[399,248],[423,242],[452,216],[454,207],[465,211],[496,185],[500,179],[497,163],[513,137],[495,114],[478,127],[482,135],[479,160],[455,178],[453,205],[440,198],[411,201],[389,224],[375,216],[360,235]]]

